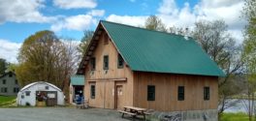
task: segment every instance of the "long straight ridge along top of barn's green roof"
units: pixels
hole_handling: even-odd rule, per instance
[[[176,33],[168,33],[168,32],[163,32],[163,31],[157,31],[157,30],[150,30],[150,29],[146,29],[146,28],[142,28],[142,27],[137,27],[137,26],[132,26],[132,25],[128,25],[128,24],[123,24],[123,23],[117,23],[117,22],[112,22],[112,21],[107,21],[107,20],[100,20],[100,22],[109,22],[112,24],[118,24],[118,25],[123,25],[123,26],[127,26],[127,27],[131,27],[131,28],[136,28],[136,29],[143,29],[145,31],[151,31],[151,32],[158,32],[158,33],[163,33],[163,34],[167,34],[167,35],[174,35],[174,36],[180,36],[180,37],[185,37],[183,35],[177,35]],[[193,39],[190,36],[187,36],[188,38]]]

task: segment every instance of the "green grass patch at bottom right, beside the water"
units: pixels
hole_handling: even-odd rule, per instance
[[[221,121],[248,121],[249,118],[245,113],[224,113]]]

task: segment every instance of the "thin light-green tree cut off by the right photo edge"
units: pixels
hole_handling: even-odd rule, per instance
[[[244,29],[243,62],[245,63],[247,76],[247,108],[249,120],[256,120],[256,107],[254,105],[254,93],[256,91],[256,1],[244,0],[242,16],[247,20]]]

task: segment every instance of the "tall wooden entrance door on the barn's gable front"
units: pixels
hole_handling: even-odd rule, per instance
[[[123,88],[122,85],[115,85],[114,89],[114,108],[121,109],[123,101]]]

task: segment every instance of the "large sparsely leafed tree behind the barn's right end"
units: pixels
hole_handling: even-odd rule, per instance
[[[227,32],[227,25],[223,20],[199,21],[192,32],[202,48],[210,58],[223,69],[226,76],[219,80],[219,117],[222,112],[237,102],[229,102],[228,99],[240,93],[240,85],[233,76],[240,74],[243,63],[240,61],[240,45],[236,45],[234,39]]]

